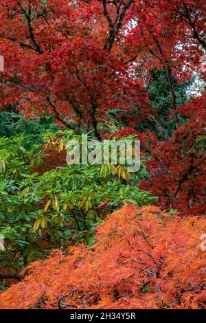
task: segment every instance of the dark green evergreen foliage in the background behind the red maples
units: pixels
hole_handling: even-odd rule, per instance
[[[176,108],[178,108],[190,99],[187,90],[193,81],[179,83],[172,74],[171,79],[176,96]],[[155,118],[148,116],[144,121],[137,122],[134,128],[141,133],[155,133],[159,140],[165,140],[172,135],[172,132],[179,125],[185,122],[185,118],[182,118],[180,115],[168,118],[168,115],[173,111],[173,107],[167,71],[165,69],[156,69],[152,71],[152,78],[150,80],[150,85],[148,85],[148,93],[150,104],[157,112],[157,115]],[[130,117],[133,116],[131,119],[135,120],[135,111],[129,114]],[[119,115],[119,111],[113,109],[110,111],[109,115],[115,120],[115,126],[118,128],[128,126],[128,112]]]

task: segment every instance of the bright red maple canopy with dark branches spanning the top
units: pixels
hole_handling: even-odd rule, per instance
[[[106,126],[111,109],[133,111],[136,123],[153,113],[144,80],[162,66],[175,109],[171,74],[190,78],[206,47],[204,2],[3,1],[1,109],[53,114],[100,139],[98,123]]]

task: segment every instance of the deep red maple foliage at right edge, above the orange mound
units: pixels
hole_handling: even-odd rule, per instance
[[[141,188],[159,197],[158,204],[181,214],[206,212],[205,95],[192,99],[174,111],[189,118],[168,142],[152,146],[148,161],[150,179]]]

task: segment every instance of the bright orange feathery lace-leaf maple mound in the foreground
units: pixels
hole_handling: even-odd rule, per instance
[[[124,206],[87,249],[54,251],[1,293],[1,309],[204,309],[206,220]]]

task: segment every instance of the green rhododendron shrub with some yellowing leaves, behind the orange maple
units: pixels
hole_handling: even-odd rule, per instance
[[[154,201],[138,188],[144,169],[129,175],[126,166],[67,164],[41,176],[32,173],[47,151],[65,153],[67,141],[80,141],[80,135],[47,133],[43,146],[30,148],[27,139],[0,140],[0,234],[5,237],[0,260],[12,270],[19,272],[54,247],[81,241],[90,246],[95,226],[107,214],[128,202]]]

